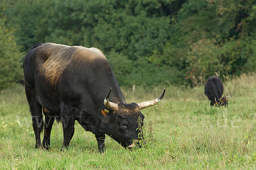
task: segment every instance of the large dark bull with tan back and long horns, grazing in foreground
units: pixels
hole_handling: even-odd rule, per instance
[[[140,110],[160,102],[165,92],[148,102],[127,104],[110,63],[97,48],[38,43],[26,54],[23,70],[36,148],[49,149],[55,119],[63,126],[61,150],[70,144],[75,120],[96,136],[100,152],[105,134],[132,147],[139,133],[137,119],[144,119]]]

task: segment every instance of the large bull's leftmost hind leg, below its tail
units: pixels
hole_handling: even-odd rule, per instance
[[[28,88],[25,85],[25,91],[32,116],[32,126],[35,132],[35,148],[38,148],[41,146],[40,133],[42,132],[44,126],[42,106],[36,99],[34,88]]]

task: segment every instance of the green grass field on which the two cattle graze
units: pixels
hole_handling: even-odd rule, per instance
[[[146,136],[130,151],[107,136],[98,153],[95,136],[76,122],[70,147],[60,152],[61,124],[54,123],[51,150],[36,150],[24,88],[0,91],[0,169],[256,169],[256,75],[227,81],[228,107],[209,107],[204,87],[169,86],[163,100],[142,110]],[[127,102],[154,99],[163,87],[123,90]],[[41,134],[41,140],[42,140]]]

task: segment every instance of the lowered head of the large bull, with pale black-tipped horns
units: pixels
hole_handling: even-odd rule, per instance
[[[160,97],[157,99],[140,102],[140,103],[113,103],[109,101],[109,96],[111,89],[108,92],[104,100],[104,105],[110,110],[101,110],[104,115],[103,121],[106,122],[108,129],[108,135],[114,140],[119,142],[123,147],[133,147],[134,139],[138,139],[138,123],[137,120],[139,116],[142,121],[144,115],[140,112],[141,109],[148,108],[150,106],[156,105],[163,98],[165,89]]]

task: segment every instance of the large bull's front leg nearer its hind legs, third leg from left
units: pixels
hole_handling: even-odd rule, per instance
[[[63,127],[63,145],[61,151],[70,144],[75,131],[75,112],[74,109],[65,105],[61,106],[61,122]]]

